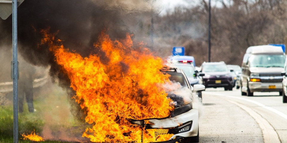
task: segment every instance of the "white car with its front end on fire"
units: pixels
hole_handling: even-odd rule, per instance
[[[170,74],[170,80],[179,82],[182,86],[187,87],[193,93],[203,91],[205,88],[203,85],[190,86],[187,77],[184,72],[178,68],[161,69],[165,74]],[[190,103],[184,103],[181,98],[172,98],[178,105],[172,111],[170,116],[161,119],[143,119],[134,120],[130,119],[133,124],[141,125],[145,129],[156,129],[155,135],[159,134],[173,134],[169,139],[169,143],[176,142],[199,142],[199,112],[196,104],[193,104],[195,100]]]

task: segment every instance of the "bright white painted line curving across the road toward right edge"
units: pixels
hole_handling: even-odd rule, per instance
[[[266,105],[264,105],[262,103],[256,102],[254,100],[250,100],[250,99],[246,99],[246,98],[242,98],[242,97],[227,96],[227,95],[222,95],[222,94],[217,94],[217,93],[208,93],[207,92],[207,94],[223,96],[223,97],[229,97],[229,98],[236,98],[236,99],[239,99],[239,100],[245,100],[245,101],[251,102],[253,104],[256,104],[256,105],[258,105],[258,106],[260,106],[262,108],[265,108],[265,109],[267,109],[267,110],[269,110],[269,111],[271,111],[271,112],[273,112],[273,113],[275,113],[275,114],[277,114],[277,115],[279,115],[279,116],[281,116],[281,117],[283,117],[284,119],[287,120],[287,115],[286,114],[284,114],[284,113],[282,113],[282,112],[280,112],[280,111],[278,111],[278,110],[276,110],[274,108],[268,107],[268,106],[266,106]]]

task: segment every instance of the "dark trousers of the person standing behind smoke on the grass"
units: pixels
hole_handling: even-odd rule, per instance
[[[28,104],[29,112],[34,112],[33,105],[33,88],[22,88],[18,90],[18,108],[19,112],[23,112],[23,102],[24,102],[24,94],[26,97],[26,102]]]

